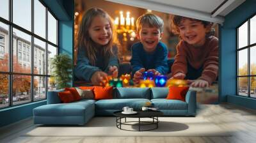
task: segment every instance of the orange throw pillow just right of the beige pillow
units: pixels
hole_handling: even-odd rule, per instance
[[[113,86],[102,87],[95,86],[94,89],[94,99],[95,100],[104,100],[104,99],[113,99]]]

